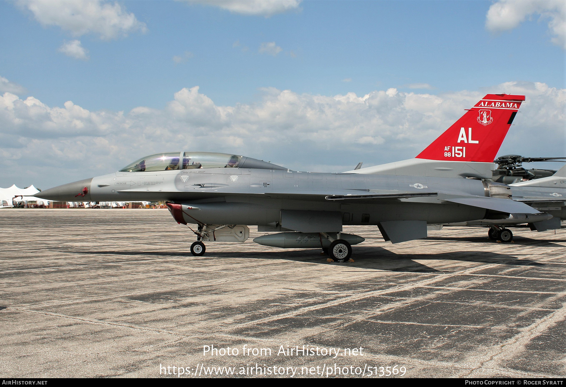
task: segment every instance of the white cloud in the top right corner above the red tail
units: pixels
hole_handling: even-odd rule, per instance
[[[491,32],[516,28],[531,15],[548,20],[551,41],[566,49],[566,2],[564,0],[499,0],[487,11],[486,28]]]

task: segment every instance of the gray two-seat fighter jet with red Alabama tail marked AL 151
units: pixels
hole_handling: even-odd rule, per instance
[[[195,256],[205,253],[205,241],[243,242],[248,226],[258,226],[277,233],[256,243],[323,248],[328,261],[347,262],[351,245],[364,239],[342,232],[344,225],[377,226],[386,241],[400,243],[426,237],[427,224],[540,214],[513,201],[509,186],[479,180],[484,172],[465,165],[494,159],[524,100],[486,95],[416,162],[391,173],[299,172],[241,155],[179,151],[145,156],[118,172],[44,190],[41,197],[166,201],[174,220],[196,235]]]

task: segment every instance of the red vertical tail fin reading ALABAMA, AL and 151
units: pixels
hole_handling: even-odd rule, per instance
[[[486,95],[417,159],[492,163],[524,100],[524,95]]]

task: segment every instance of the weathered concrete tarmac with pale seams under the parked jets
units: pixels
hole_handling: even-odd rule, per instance
[[[193,257],[166,210],[0,210],[0,377],[565,375],[565,229],[515,228],[512,244],[484,228],[397,245],[345,231],[366,238],[354,263],[256,245],[255,228]],[[286,355],[303,345],[319,355]]]

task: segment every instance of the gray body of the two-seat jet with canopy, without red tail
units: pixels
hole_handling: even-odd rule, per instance
[[[199,158],[207,158],[208,164]],[[255,168],[245,168],[247,165]],[[243,241],[247,237],[241,240],[238,235],[216,234],[226,234],[230,227],[239,225],[245,227],[239,228],[243,237],[248,233],[246,226],[253,225],[260,231],[318,233],[329,241],[325,240],[327,245],[348,240],[341,235],[342,225],[375,225],[385,240],[398,243],[426,237],[427,224],[469,222],[501,213],[539,214],[509,200],[509,187],[500,183],[472,178],[297,172],[243,156],[205,152],[147,156],[110,175],[44,190],[41,197],[57,201],[76,201],[77,197],[81,201],[166,201],[178,223],[198,225],[195,233],[199,240]],[[218,231],[222,228],[224,231]],[[289,235],[281,235],[284,237]],[[256,240],[281,245],[272,239]],[[319,246],[324,248],[322,239]],[[351,249],[346,248],[349,258]]]

